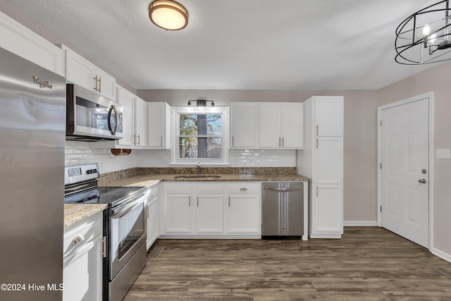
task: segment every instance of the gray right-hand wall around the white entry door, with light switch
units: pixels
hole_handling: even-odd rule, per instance
[[[415,68],[412,66],[412,68]],[[433,149],[451,148],[451,61],[378,90],[378,106],[433,92]],[[435,153],[432,154],[435,158]],[[451,160],[433,160],[432,247],[451,257]]]

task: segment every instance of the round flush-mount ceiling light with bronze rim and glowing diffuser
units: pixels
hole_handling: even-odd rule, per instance
[[[183,30],[188,25],[186,9],[175,1],[157,0],[149,6],[149,18],[163,30]]]

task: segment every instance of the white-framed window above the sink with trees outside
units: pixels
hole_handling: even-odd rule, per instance
[[[226,164],[227,108],[174,108],[173,163]]]

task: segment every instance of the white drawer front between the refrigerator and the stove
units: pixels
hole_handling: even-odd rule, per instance
[[[63,257],[78,249],[85,242],[96,240],[103,235],[103,212],[89,216],[64,230]]]

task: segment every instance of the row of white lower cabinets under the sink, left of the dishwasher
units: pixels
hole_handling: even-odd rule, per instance
[[[261,235],[260,183],[165,183],[165,190],[162,238]]]

